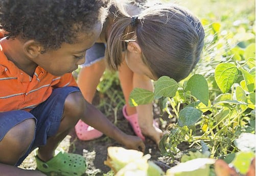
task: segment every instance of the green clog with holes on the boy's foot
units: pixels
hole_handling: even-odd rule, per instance
[[[87,169],[85,159],[77,154],[59,152],[58,155],[47,162],[43,162],[37,156],[35,158],[37,169],[44,173],[56,172],[63,176],[80,176]]]

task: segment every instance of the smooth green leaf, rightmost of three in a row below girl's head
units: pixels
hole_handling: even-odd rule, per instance
[[[185,91],[190,91],[205,106],[208,106],[209,92],[208,84],[201,74],[194,74],[188,81]]]

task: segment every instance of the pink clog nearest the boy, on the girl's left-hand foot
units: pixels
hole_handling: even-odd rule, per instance
[[[88,124],[84,123],[82,120],[79,120],[75,126],[75,131],[78,139],[83,141],[88,141],[92,139],[99,138],[103,135],[102,132],[90,127]]]

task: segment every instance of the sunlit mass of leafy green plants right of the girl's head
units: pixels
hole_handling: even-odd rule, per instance
[[[134,154],[135,159],[129,156],[130,161],[117,171],[114,164],[125,159],[109,149],[106,164],[115,175],[255,175],[255,13],[240,13],[239,18],[208,13],[202,19],[204,52],[187,79],[177,83],[164,76],[154,82],[153,92],[135,88],[130,94],[130,105],[154,101],[174,119],[159,147],[162,155],[174,158],[179,144],[189,145],[182,164],[156,174],[147,156]],[[147,163],[145,167],[136,157]],[[222,161],[229,164],[224,170]],[[249,169],[252,161],[254,173]]]

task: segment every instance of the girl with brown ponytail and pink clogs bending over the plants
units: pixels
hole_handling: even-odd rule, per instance
[[[130,107],[129,94],[135,87],[152,91],[151,80],[161,76],[177,82],[186,78],[199,61],[204,45],[201,22],[174,4],[148,6],[145,2],[118,1],[110,8],[98,42],[87,51],[78,77],[85,99],[92,102],[105,65],[119,71],[126,101],[124,117],[138,137],[145,140],[148,136],[158,144],[162,132],[153,120],[152,104]],[[90,140],[102,135],[88,129],[79,121],[78,138]]]

